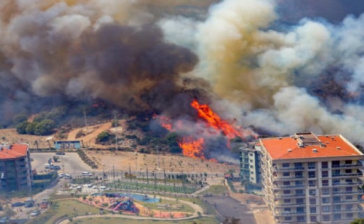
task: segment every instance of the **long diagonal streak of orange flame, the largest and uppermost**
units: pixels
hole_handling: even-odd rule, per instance
[[[235,138],[236,136],[243,137],[241,131],[236,130],[228,122],[222,120],[220,116],[214,113],[208,105],[199,104],[199,102],[195,99],[191,103],[191,106],[197,110],[199,118],[206,120],[210,127],[221,130],[229,139]]]

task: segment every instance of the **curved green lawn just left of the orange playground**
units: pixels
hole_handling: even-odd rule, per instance
[[[76,209],[76,211],[74,211],[74,209]],[[59,218],[60,216],[85,214],[86,212],[99,214],[99,209],[76,200],[61,200],[53,202],[53,205],[51,205],[44,214],[41,214],[37,218],[33,218],[29,223],[53,224],[56,218]]]

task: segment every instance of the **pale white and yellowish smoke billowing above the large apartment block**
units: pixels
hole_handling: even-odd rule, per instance
[[[348,16],[340,24],[308,18],[291,26],[279,22],[274,1],[226,0],[210,8],[206,21],[171,17],[159,24],[170,42],[189,33],[180,44],[199,56],[190,74],[210,81],[219,102],[229,102],[223,110],[214,102],[218,112],[234,113],[244,126],[277,134],[315,131],[360,142],[364,120],[358,114],[363,106],[355,100],[360,97],[351,102],[336,99],[342,107],[332,113],[302,83],[318,81],[329,72],[342,81],[347,95],[361,95],[364,14]]]

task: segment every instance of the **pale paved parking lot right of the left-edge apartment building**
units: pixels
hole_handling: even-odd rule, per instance
[[[53,163],[53,165],[61,167],[59,172],[64,170],[65,173],[77,176],[81,175],[83,171],[90,173],[94,171],[88,164],[82,161],[76,152],[66,152],[65,155],[56,155],[54,152],[33,152],[31,153],[31,159],[33,159],[31,163],[32,168],[41,173],[45,170],[44,164],[48,163],[49,158],[53,160],[53,156],[59,157],[59,162]]]

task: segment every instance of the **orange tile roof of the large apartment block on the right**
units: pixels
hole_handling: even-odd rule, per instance
[[[298,135],[298,134],[297,134]],[[358,149],[340,135],[315,136],[304,134],[308,138],[283,137],[261,138],[260,143],[265,147],[272,159],[304,159],[318,157],[346,157],[363,155]],[[312,138],[315,136],[317,138]],[[313,143],[314,139],[317,142]],[[305,143],[299,147],[299,143]],[[323,145],[322,145],[323,144]]]

